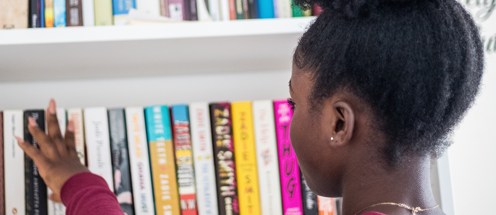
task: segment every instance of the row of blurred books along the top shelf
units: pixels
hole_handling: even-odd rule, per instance
[[[220,21],[289,18],[320,13],[318,6],[302,11],[291,0],[0,0],[0,26],[51,28],[123,25],[129,10],[171,21]]]

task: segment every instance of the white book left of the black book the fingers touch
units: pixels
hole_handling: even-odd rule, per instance
[[[3,111],[5,215],[26,215],[24,151],[14,137],[24,134],[23,117],[22,110]]]

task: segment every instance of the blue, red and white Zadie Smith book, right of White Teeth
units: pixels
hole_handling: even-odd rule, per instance
[[[179,195],[181,197],[181,214],[197,215],[188,107],[187,105],[174,105],[171,108],[171,113],[176,165],[178,167]]]

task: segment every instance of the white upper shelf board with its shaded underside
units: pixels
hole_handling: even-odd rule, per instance
[[[0,30],[0,82],[288,70],[313,19]]]

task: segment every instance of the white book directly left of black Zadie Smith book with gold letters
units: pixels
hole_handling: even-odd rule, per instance
[[[217,215],[217,188],[213,160],[210,112],[207,102],[189,104],[191,148],[196,180],[198,215]]]

